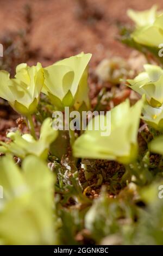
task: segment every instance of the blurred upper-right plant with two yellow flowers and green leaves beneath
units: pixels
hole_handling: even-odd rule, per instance
[[[134,27],[120,26],[119,40],[129,47],[145,54],[148,62],[152,59],[162,62],[162,11],[156,11],[156,5],[149,10],[129,9],[128,16],[135,22]]]

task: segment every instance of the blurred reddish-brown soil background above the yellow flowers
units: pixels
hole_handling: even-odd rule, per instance
[[[92,66],[113,55],[128,58],[130,49],[116,39],[117,26],[130,22],[128,8],[153,4],[163,8],[161,0],[0,0],[3,68],[27,61],[48,65],[81,51],[93,54]]]

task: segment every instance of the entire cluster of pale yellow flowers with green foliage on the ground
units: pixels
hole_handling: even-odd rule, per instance
[[[87,84],[90,53],[46,68],[22,63],[14,78],[0,71],[0,96],[29,128],[13,129],[0,142],[0,244],[163,244],[163,201],[158,197],[163,182],[163,70],[156,56],[163,42],[163,14],[154,6],[129,10],[128,15],[135,28],[123,28],[121,40],[146,56],[151,52],[155,63],[144,65],[135,78],[123,72],[126,87],[141,99],[111,108],[108,136],[102,136],[102,128],[89,129],[98,115],[86,131],[52,126],[53,111],[94,110]],[[108,79],[107,65],[111,62],[105,62]],[[99,79],[102,72],[101,66]],[[114,88],[123,74],[112,77]],[[107,93],[99,93],[98,111],[104,108],[102,100],[110,99]],[[104,123],[107,118],[103,116]]]

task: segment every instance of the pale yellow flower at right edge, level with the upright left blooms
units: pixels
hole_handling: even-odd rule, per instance
[[[163,70],[160,66],[145,64],[146,72],[134,79],[129,79],[129,87],[140,95],[145,94],[152,107],[160,107],[163,103]]]

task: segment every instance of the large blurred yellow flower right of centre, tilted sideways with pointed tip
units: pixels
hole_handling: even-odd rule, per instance
[[[126,100],[111,109],[110,135],[102,136],[101,128],[99,130],[86,130],[74,142],[74,156],[116,160],[120,163],[134,161],[137,156],[137,130],[141,108],[141,100],[133,107],[130,107],[129,100]],[[95,122],[97,117],[95,117]]]

